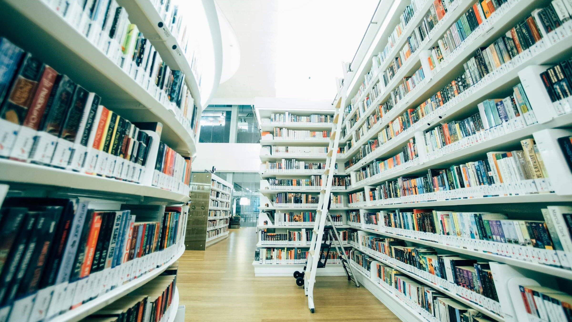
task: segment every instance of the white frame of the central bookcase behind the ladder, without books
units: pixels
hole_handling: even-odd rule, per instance
[[[272,113],[284,114],[288,112],[289,114],[295,116],[308,116],[311,114],[321,114],[335,116],[335,109],[333,106],[331,109],[303,109],[299,110],[293,109],[279,109],[279,108],[256,108],[257,117],[260,120],[260,124],[263,131],[273,133],[274,128],[286,128],[288,130],[309,130],[309,131],[328,131],[332,132],[332,123],[302,123],[302,122],[271,122],[270,117]],[[339,116],[338,116],[339,117]],[[262,146],[301,146],[301,147],[313,147],[316,146],[325,147],[328,146],[330,141],[329,137],[326,138],[306,138],[303,140],[296,140],[292,138],[275,138],[272,134],[267,134],[262,137],[260,144]],[[330,154],[331,155],[331,154]],[[337,154],[341,156],[343,154]],[[304,162],[318,162],[324,163],[328,153],[325,152],[310,152],[310,153],[299,153],[299,152],[284,152],[275,153],[273,149],[261,149],[260,159],[263,164],[260,166],[260,176],[262,180],[260,181],[260,215],[259,223],[257,225],[257,234],[259,235],[259,242],[257,243],[258,248],[299,248],[306,252],[309,249],[309,241],[296,241],[296,242],[286,242],[279,241],[273,243],[272,241],[261,240],[262,231],[264,229],[269,229],[270,232],[285,233],[287,231],[302,232],[303,230],[312,230],[314,222],[281,222],[280,224],[276,222],[277,213],[290,213],[301,214],[302,212],[316,213],[317,204],[293,204],[293,203],[277,203],[273,202],[277,193],[305,193],[311,194],[312,196],[319,197],[321,186],[276,186],[271,185],[271,179],[309,179],[311,176],[322,176],[325,172],[324,169],[267,169],[266,161],[268,162],[281,162],[282,159]],[[339,168],[339,167],[338,167]],[[336,170],[335,174],[340,174],[340,176],[345,176],[345,173],[340,170]],[[345,186],[332,186],[332,193],[339,194],[345,192]],[[268,206],[266,206],[268,204]],[[345,224],[345,208],[336,207],[332,205],[331,213],[332,215],[341,214],[342,222],[339,225],[336,224],[337,229],[345,230],[349,226]],[[347,247],[347,243],[343,244]],[[332,245],[333,247],[333,245]],[[264,263],[262,261],[253,262],[255,268],[255,276],[291,276],[295,271],[302,271],[304,267],[305,260],[297,260],[297,263],[292,263],[295,260],[279,260],[272,261],[272,264]],[[332,260],[328,260],[325,269],[320,269],[318,275],[344,275],[341,263],[332,263]]]

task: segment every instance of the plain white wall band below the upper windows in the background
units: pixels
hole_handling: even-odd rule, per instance
[[[259,143],[199,143],[193,171],[259,172]]]

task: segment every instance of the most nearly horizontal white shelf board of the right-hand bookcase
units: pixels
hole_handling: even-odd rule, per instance
[[[571,202],[572,196],[558,196],[555,193],[522,194],[518,196],[498,196],[483,198],[464,198],[439,201],[401,202],[387,205],[352,206],[348,204],[345,209],[398,209],[398,208],[431,208],[439,206],[482,205],[482,204],[519,204],[535,202]]]

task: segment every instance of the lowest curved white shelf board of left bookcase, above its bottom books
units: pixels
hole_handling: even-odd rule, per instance
[[[130,292],[133,292],[137,288],[145,285],[148,281],[154,279],[162,272],[165,271],[170,265],[172,265],[175,261],[182,256],[185,252],[185,248],[181,247],[181,250],[175,255],[170,261],[153,269],[153,271],[146,273],[145,275],[138,277],[132,281],[129,281],[126,284],[121,285],[120,287],[114,288],[111,291],[105,293],[102,296],[98,296],[96,299],[86,302],[85,304],[80,305],[79,307],[67,311],[62,315],[58,315],[50,320],[50,322],[76,322],[84,319],[84,317],[98,311],[99,309],[106,307],[109,304],[112,304],[117,299],[128,295]],[[176,311],[176,310],[175,310]]]

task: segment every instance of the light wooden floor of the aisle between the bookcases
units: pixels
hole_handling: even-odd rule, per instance
[[[399,321],[345,276],[317,277],[310,313],[293,277],[254,276],[256,240],[255,228],[231,229],[206,251],[185,252],[177,277],[185,321]]]

